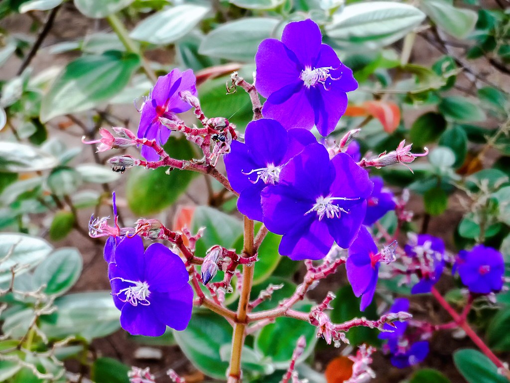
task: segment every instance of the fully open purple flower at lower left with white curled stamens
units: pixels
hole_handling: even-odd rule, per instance
[[[138,235],[123,238],[108,275],[120,325],[132,335],[159,337],[170,326],[184,330],[191,318],[193,291],[181,258],[162,244],[143,249]]]

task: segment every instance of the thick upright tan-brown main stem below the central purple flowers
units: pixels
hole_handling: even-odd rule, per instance
[[[255,252],[253,230],[253,221],[244,217],[243,256],[245,257],[251,257]],[[241,353],[244,345],[248,304],[250,301],[251,283],[253,281],[253,269],[254,265],[243,265],[242,289],[239,305],[237,307],[236,325],[234,326],[234,334],[232,337],[232,356],[227,383],[237,383],[241,381]]]

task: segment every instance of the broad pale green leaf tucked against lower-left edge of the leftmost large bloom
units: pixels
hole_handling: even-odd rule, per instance
[[[110,291],[66,294],[57,298],[55,305],[56,314],[41,318],[41,330],[50,339],[75,335],[91,341],[120,328],[120,311]]]

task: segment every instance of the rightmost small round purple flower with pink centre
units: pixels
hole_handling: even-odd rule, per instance
[[[503,287],[503,256],[491,247],[476,245],[471,251],[462,250],[455,268],[471,293],[489,294]]]

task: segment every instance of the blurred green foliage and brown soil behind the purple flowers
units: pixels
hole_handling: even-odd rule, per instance
[[[505,0],[3,0],[1,381],[127,382],[125,364],[151,364],[161,374],[169,367],[181,369],[189,381],[207,380],[202,373],[224,379],[231,329],[214,314],[197,311],[186,331],[160,339],[116,332],[118,311],[106,291],[101,242],[88,236],[87,221],[92,212],[110,213],[116,190],[122,224],[155,217],[169,226],[175,221],[177,229],[207,226],[199,253],[215,244],[234,248],[242,243],[235,199],[192,173],[134,169],[121,177],[105,166],[109,153],[84,147],[80,137],[94,139],[101,127],[136,130],[133,101],[140,106],[157,76],[173,67],[195,71],[208,117],[227,117],[242,132],[252,117],[251,104],[247,94],[226,95],[230,74],[238,70],[253,81],[258,44],[279,38],[287,22],[308,17],[360,83],[349,93],[346,116],[331,137],[361,127],[358,141],[367,157],[393,150],[404,138],[414,143],[415,152],[431,149],[411,164],[414,174],[403,166],[374,172],[397,193],[411,190],[415,219],[406,229],[441,236],[452,252],[485,243],[510,262],[510,12]],[[191,115],[188,119],[193,121]],[[175,158],[196,155],[178,135],[165,149]],[[382,223],[392,232],[394,214]],[[266,237],[254,288],[257,293],[268,283],[284,283],[273,304],[288,295],[299,273],[299,265],[277,254],[278,243],[278,236]],[[338,283],[342,278],[329,286],[339,289],[335,321],[361,315],[350,287]],[[465,304],[460,288],[444,279],[450,303]],[[391,280],[379,290],[383,303],[370,306],[363,314],[369,318],[384,311],[392,293],[409,293]],[[234,303],[236,292],[228,299]],[[418,297],[412,310],[437,319],[439,309],[422,302]],[[503,355],[510,351],[507,305],[508,293],[498,295],[496,303],[480,300],[469,318]],[[248,339],[247,380],[279,381],[303,333],[309,347],[300,374],[325,381],[321,371],[340,352],[323,342],[315,347],[313,327],[287,320],[278,318]],[[304,326],[298,330],[298,325]],[[379,345],[376,333],[366,328],[350,331],[348,338],[352,345]],[[380,357],[377,381],[504,381],[478,351],[456,350],[472,347],[469,342],[450,336],[437,341],[441,344],[432,346],[425,364],[442,373],[398,371]],[[195,367],[183,361],[175,344]],[[155,353],[160,349],[163,356]],[[328,376],[328,383],[338,379]]]

